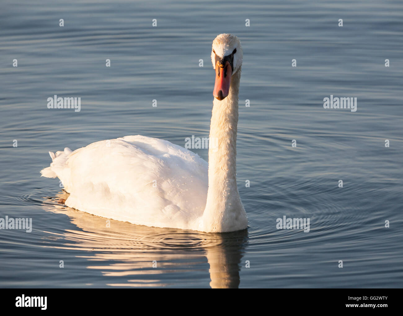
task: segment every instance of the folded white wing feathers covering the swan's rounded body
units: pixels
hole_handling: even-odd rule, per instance
[[[119,221],[192,229],[206,205],[207,162],[158,138],[92,143],[69,153],[62,173],[67,206]]]

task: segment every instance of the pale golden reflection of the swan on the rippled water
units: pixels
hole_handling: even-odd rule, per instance
[[[57,199],[68,196],[60,192]],[[248,240],[247,229],[231,233],[203,233],[133,225],[71,209],[56,200],[45,198],[44,209],[69,216],[71,223],[80,230],[66,229],[61,234],[46,232],[52,235],[51,247],[81,250],[83,254],[79,257],[91,262],[87,268],[98,269],[111,280],[113,277],[117,277],[115,280],[127,278],[127,282],[106,281],[106,285],[172,286],[169,282],[172,278],[177,280],[196,273],[199,275],[201,269],[195,266],[203,264],[206,257],[210,265],[210,287],[239,286],[241,258]],[[169,273],[171,276],[158,278],[158,275]]]

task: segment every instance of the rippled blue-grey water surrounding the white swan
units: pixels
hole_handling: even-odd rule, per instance
[[[33,221],[0,230],[1,287],[402,287],[400,1],[1,2],[0,217]],[[210,47],[226,32],[244,52],[247,231],[106,228],[57,204],[59,180],[39,177],[48,151],[208,136]],[[81,111],[48,109],[54,94],[81,97]],[[357,112],[324,109],[330,94],[357,97]],[[310,218],[310,232],[276,229],[284,215]]]

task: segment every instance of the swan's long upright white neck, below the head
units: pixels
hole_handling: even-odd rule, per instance
[[[247,227],[237,187],[236,143],[241,69],[231,78],[228,96],[214,98],[208,151],[208,193],[204,231],[235,231]]]

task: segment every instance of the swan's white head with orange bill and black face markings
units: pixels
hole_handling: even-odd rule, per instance
[[[216,83],[213,95],[216,99],[224,99],[231,85],[231,76],[241,71],[242,47],[239,38],[231,34],[220,34],[214,41],[211,50],[211,61],[216,70]]]

